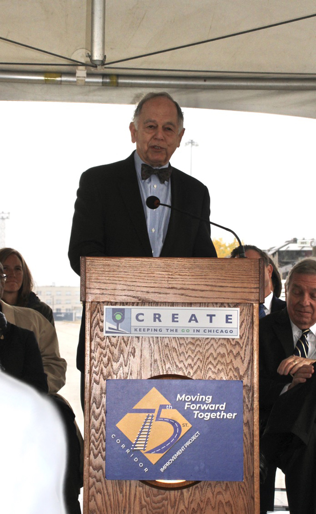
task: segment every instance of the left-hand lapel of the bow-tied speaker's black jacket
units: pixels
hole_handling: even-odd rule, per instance
[[[117,173],[117,184],[127,212],[132,220],[137,235],[148,255],[152,256],[150,241],[148,237],[146,218],[142,203],[139,184],[137,182],[134,152],[126,159],[126,167]]]

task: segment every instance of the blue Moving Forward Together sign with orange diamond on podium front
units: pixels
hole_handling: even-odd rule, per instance
[[[243,480],[239,380],[107,380],[107,480]]]

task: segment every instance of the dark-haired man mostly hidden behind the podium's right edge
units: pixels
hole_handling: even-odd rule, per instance
[[[271,289],[271,278],[273,274],[273,266],[270,262],[269,255],[261,250],[260,248],[254,245],[244,245],[245,255],[249,259],[264,259],[265,262],[265,273],[264,273],[264,296],[265,300],[262,305],[260,305],[259,309],[259,317],[262,318],[267,316],[268,314],[275,313],[278,310],[284,309],[286,306],[286,302],[284,300],[280,300],[277,296],[275,296],[274,292]],[[231,257],[239,257],[238,248],[234,248],[230,254]],[[281,292],[281,291],[280,291]]]

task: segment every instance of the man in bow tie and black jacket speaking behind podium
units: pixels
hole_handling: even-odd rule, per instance
[[[136,152],[81,176],[68,252],[72,269],[80,274],[81,256],[216,257],[207,223],[146,206],[146,198],[154,195],[209,219],[206,186],[170,166],[185,131],[180,106],[167,93],[149,93],[137,105],[129,129]],[[81,339],[77,368],[84,372]]]

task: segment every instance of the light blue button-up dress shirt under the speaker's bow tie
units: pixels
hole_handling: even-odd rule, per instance
[[[157,175],[151,175],[147,180],[142,180],[142,163],[144,161],[142,161],[137,152],[134,153],[134,162],[146,217],[152,256],[159,257],[168,230],[170,209],[164,206],[160,206],[157,209],[149,209],[146,205],[146,199],[148,196],[157,196],[163,204],[171,205],[170,180],[162,184]],[[169,162],[161,168],[167,168],[168,165]]]

